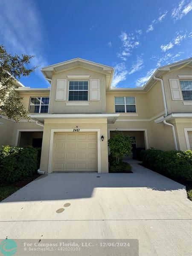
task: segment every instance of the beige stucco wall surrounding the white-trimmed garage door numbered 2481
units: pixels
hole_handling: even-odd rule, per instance
[[[48,171],[51,129],[71,129],[73,132],[73,128],[76,126],[80,129],[100,129],[101,136],[103,135],[105,138],[104,141],[101,141],[101,172],[108,172],[107,119],[45,119],[41,171]]]

